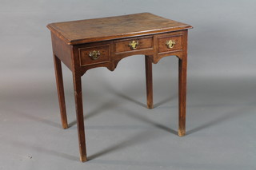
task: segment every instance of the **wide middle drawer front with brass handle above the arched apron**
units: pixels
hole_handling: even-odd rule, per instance
[[[153,48],[153,37],[130,38],[114,42],[115,53]]]

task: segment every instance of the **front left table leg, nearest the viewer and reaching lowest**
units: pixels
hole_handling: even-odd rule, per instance
[[[73,73],[74,81],[74,100],[77,114],[77,125],[78,125],[78,144],[80,151],[80,160],[85,162],[86,157],[86,137],[85,137],[85,128],[84,128],[84,117],[82,111],[82,82],[81,76]]]

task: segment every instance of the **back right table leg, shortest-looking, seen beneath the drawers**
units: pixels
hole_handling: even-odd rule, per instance
[[[146,65],[146,104],[148,109],[153,109],[153,83],[152,83],[152,61],[145,56]]]

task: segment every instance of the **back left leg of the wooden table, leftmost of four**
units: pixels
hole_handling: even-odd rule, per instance
[[[62,63],[57,56],[54,55],[54,69],[55,69],[55,77],[56,84],[58,90],[58,103],[62,117],[62,128],[68,128],[67,119],[66,119],[66,104],[65,104],[65,96],[64,96],[64,87],[63,87],[63,79],[62,79]]]

